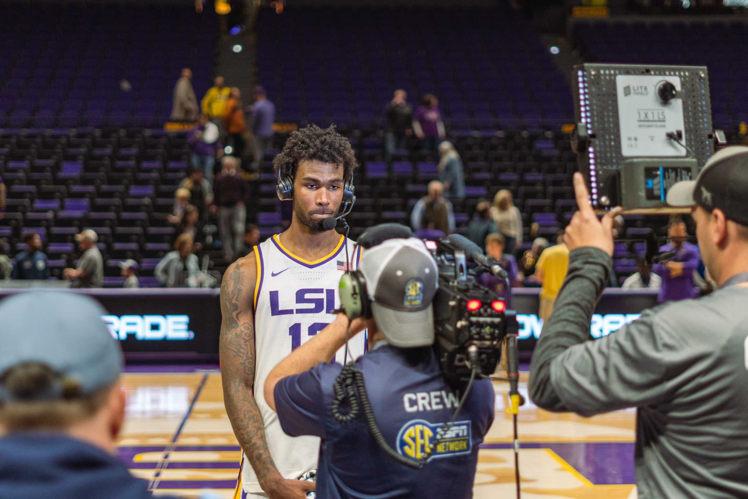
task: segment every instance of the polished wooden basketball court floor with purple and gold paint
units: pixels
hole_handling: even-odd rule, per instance
[[[526,375],[524,375],[526,379]],[[128,418],[120,457],[158,494],[232,498],[239,445],[218,370],[126,373]],[[479,453],[475,498],[514,498],[506,383],[494,382],[496,420]],[[527,394],[527,384],[521,384]],[[634,409],[583,418],[530,402],[519,414],[524,499],[634,499]]]

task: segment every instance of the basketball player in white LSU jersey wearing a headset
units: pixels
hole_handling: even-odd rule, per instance
[[[325,223],[352,206],[358,163],[348,140],[334,127],[307,126],[273,165],[278,197],[293,200],[291,225],[233,263],[221,284],[224,399],[244,451],[234,499],[303,499],[313,490],[297,479],[316,468],[319,438],[283,433],[263,386],[278,362],[332,322],[340,276],[361,259],[361,249]],[[352,338],[349,355],[363,355],[365,342]],[[336,361],[344,362],[343,349]]]

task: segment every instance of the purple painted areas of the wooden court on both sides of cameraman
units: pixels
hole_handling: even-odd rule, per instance
[[[521,444],[523,449],[551,449],[583,477],[595,485],[622,485],[634,483],[634,444],[631,443],[528,443]],[[483,449],[511,449],[512,444],[482,444]],[[238,445],[178,446],[176,451],[236,451],[236,462],[172,462],[167,459],[164,468],[172,469],[239,469]],[[132,462],[139,453],[166,452],[165,447],[119,447],[117,454],[131,469],[155,469],[156,462]],[[530,466],[531,462],[520,462],[520,467]],[[205,480],[177,482],[162,480],[160,489],[194,489],[199,482],[199,489],[231,489],[236,482],[227,480]],[[186,485],[188,484],[188,485]]]

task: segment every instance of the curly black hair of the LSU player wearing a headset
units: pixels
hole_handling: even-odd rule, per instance
[[[335,125],[326,129],[309,125],[292,132],[283,150],[273,159],[276,177],[295,178],[298,164],[304,159],[343,165],[343,180],[346,182],[358,168],[351,143],[335,131]]]

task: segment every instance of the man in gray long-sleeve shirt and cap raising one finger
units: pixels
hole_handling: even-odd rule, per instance
[[[748,147],[714,155],[671,206],[693,206],[696,237],[719,289],[663,304],[588,341],[610,272],[612,210],[598,221],[574,174],[579,212],[566,228],[568,274],[530,367],[530,397],[591,416],[637,406],[639,498],[748,497]]]

